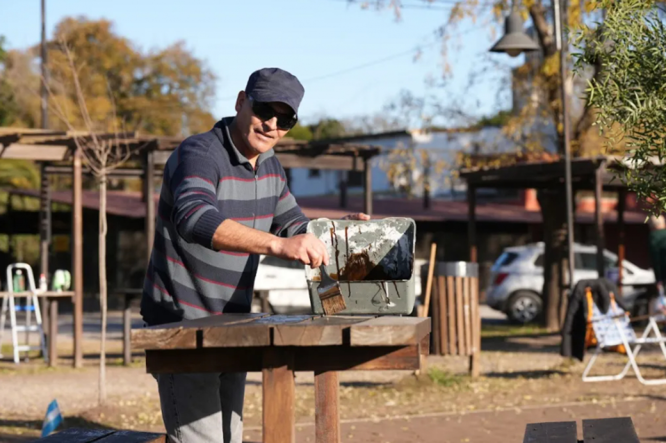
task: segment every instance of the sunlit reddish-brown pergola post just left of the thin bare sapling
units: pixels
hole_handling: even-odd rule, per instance
[[[72,269],[74,277],[74,367],[83,367],[83,177],[82,157],[74,150],[72,169]]]

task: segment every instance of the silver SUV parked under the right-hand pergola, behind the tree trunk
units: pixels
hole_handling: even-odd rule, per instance
[[[597,246],[574,243],[573,280],[599,278],[597,272]],[[605,269],[617,270],[617,255],[603,251]],[[653,270],[641,269],[624,260],[623,300],[631,309],[640,286],[655,282]],[[637,286],[634,288],[633,285]],[[486,290],[486,304],[504,312],[509,320],[518,323],[531,322],[543,306],[543,242],[505,248],[490,269],[490,281]],[[643,289],[644,290],[644,289]]]

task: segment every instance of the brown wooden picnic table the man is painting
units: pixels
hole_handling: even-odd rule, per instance
[[[316,442],[339,443],[338,371],[419,369],[430,318],[221,314],[133,329],[132,346],[151,374],[262,372],[264,443],[294,442],[294,371],[312,371]]]

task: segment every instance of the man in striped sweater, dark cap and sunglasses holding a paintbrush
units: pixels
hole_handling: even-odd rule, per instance
[[[303,95],[290,73],[260,69],[238,93],[235,117],[169,157],[141,300],[148,325],[250,312],[259,254],[328,264],[272,150],[296,125]],[[245,376],[155,376],[170,441],[241,443]]]

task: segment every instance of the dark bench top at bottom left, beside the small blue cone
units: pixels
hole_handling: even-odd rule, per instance
[[[166,443],[166,434],[115,429],[68,428],[36,441],[39,443]]]

